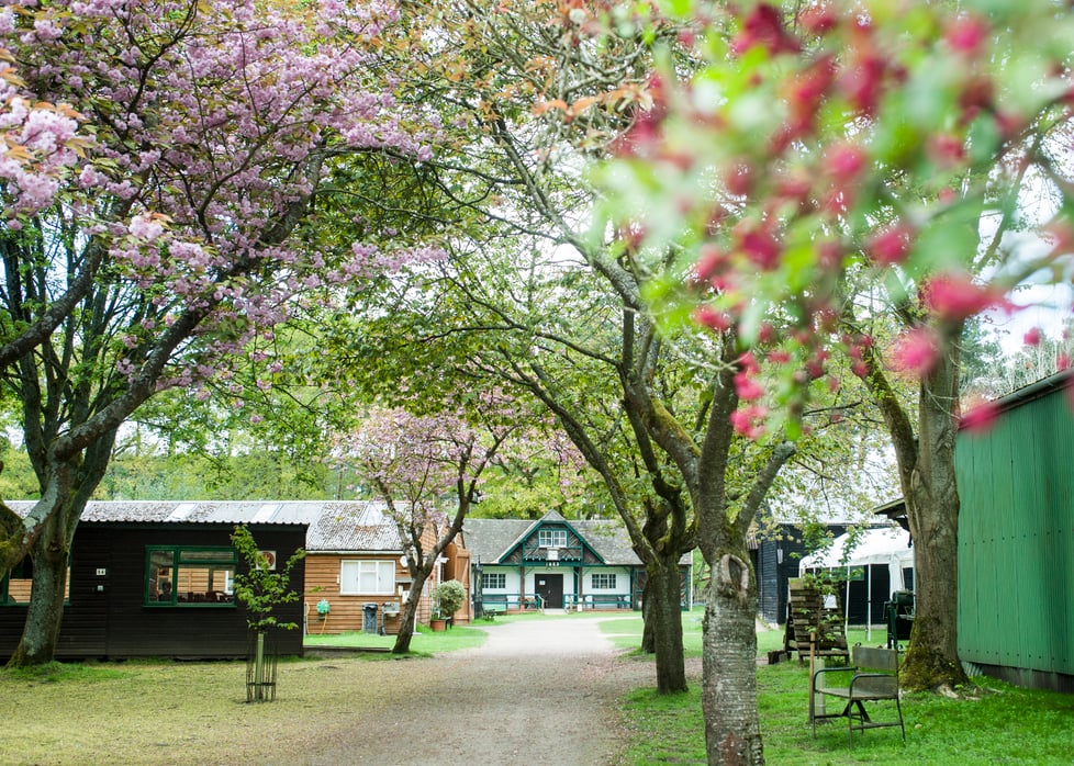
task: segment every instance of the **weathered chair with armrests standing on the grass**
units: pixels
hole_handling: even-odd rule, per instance
[[[837,675],[840,674],[840,675]],[[847,686],[829,686],[841,679]],[[816,695],[825,695],[842,700],[843,709],[838,713],[817,713]],[[898,726],[906,744],[906,726],[903,725],[903,707],[899,703],[898,651],[894,649],[873,649],[858,644],[851,651],[849,667],[824,667],[809,677],[809,721],[813,736],[817,736],[817,721],[846,718],[850,733],[850,746],[854,746],[854,730]],[[876,721],[869,714],[865,703],[895,702],[896,717],[892,720]],[[875,708],[874,708],[875,712]]]

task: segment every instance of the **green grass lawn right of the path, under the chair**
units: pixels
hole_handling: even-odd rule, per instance
[[[616,620],[602,626],[613,640],[636,646],[641,622]],[[630,638],[630,630],[633,638]],[[700,652],[701,622],[696,612],[683,616],[686,652]],[[696,633],[696,635],[691,635]],[[864,631],[850,631],[851,643],[865,643]],[[870,644],[881,645],[886,634],[876,630]],[[782,647],[782,631],[758,634],[758,654]],[[770,764],[1070,764],[1074,731],[1074,696],[1030,691],[989,678],[975,679],[986,689],[977,699],[952,700],[929,694],[903,699],[906,745],[898,728],[854,734],[850,750],[846,722],[817,729],[808,724],[808,665],[797,660],[758,668],[758,707],[764,755]],[[684,695],[661,697],[637,689],[624,702],[630,719],[633,744],[627,763],[704,764],[705,741],[700,679]]]

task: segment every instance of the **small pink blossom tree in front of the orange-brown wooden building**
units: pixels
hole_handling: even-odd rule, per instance
[[[387,504],[406,548],[411,596],[392,647],[395,654],[410,651],[422,590],[462,529],[486,469],[521,425],[483,418],[474,426],[454,415],[388,409],[371,413],[338,439],[339,461]]]

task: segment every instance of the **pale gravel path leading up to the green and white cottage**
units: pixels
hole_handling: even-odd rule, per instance
[[[653,668],[616,660],[601,619],[491,623],[480,649],[367,663],[353,734],[306,763],[616,764],[618,699]]]

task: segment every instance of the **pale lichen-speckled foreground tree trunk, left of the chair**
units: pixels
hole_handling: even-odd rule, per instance
[[[705,599],[702,708],[709,766],[763,764],[757,713],[757,587],[749,557],[714,562]]]

